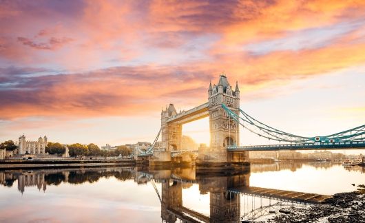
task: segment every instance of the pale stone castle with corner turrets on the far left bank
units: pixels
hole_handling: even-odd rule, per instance
[[[26,141],[25,136],[19,137],[19,145],[18,149],[16,149],[15,153],[19,155],[24,154],[45,154],[45,147],[47,146],[48,139],[46,136],[39,137],[38,141]]]

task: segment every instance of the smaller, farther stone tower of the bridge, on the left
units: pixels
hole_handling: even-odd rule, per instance
[[[167,119],[176,116],[176,114],[176,109],[173,104],[169,104],[169,107],[161,111],[162,147],[165,151],[181,149],[182,125],[179,123],[167,123]]]

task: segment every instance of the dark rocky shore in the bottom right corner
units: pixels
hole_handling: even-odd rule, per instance
[[[336,193],[322,204],[291,207],[267,222],[365,222],[365,185],[349,193]]]

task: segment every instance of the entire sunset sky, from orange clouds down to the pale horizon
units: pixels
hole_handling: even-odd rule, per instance
[[[364,125],[365,1],[0,1],[0,141],[151,142],[222,73],[272,127]],[[208,119],[183,134],[209,143]]]

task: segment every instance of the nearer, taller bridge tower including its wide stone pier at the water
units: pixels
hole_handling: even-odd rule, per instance
[[[227,114],[222,105],[240,114],[240,89],[229,84],[221,74],[217,85],[209,84],[208,110],[210,146],[200,147],[196,160],[197,171],[222,171],[223,169],[246,169],[249,154],[245,151],[227,151],[227,146],[240,145],[239,124]]]

